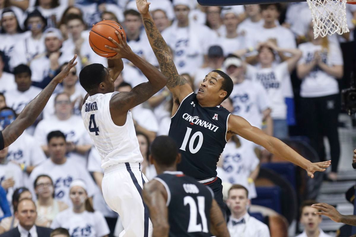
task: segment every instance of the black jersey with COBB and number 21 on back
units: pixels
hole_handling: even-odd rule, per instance
[[[177,171],[154,179],[167,190],[169,237],[210,237],[211,189]]]

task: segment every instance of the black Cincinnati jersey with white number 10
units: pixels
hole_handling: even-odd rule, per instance
[[[227,142],[229,115],[222,106],[201,107],[197,94],[183,99],[169,129],[182,154],[179,171],[198,180],[216,177],[216,163]]]

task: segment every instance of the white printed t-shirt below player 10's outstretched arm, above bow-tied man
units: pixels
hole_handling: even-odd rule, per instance
[[[249,199],[256,198],[255,184],[249,184],[247,179],[250,177],[251,172],[256,169],[260,160],[258,160],[254,152],[254,144],[241,137],[239,139],[240,147],[236,147],[236,143],[230,140],[225,145],[223,153],[221,153],[225,171],[223,177],[226,179],[223,179],[223,182],[241,184],[247,188]]]

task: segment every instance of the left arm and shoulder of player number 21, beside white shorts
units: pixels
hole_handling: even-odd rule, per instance
[[[157,180],[146,183],[142,190],[143,201],[150,209],[150,219],[153,225],[152,237],[168,237],[167,191]]]

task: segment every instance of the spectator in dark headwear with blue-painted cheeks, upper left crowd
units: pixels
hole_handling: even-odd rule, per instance
[[[43,31],[46,28],[46,23],[46,19],[37,10],[27,15],[25,27],[30,30],[31,34],[24,35],[15,44],[10,55],[10,68],[15,68],[19,64],[28,65],[36,56],[45,52]]]

